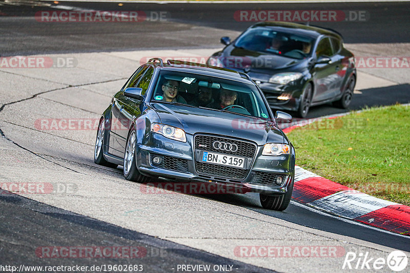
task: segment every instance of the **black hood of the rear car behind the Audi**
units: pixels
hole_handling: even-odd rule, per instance
[[[288,69],[298,65],[306,59],[294,59],[275,54],[251,51],[236,48],[231,45],[219,56],[223,65],[229,69],[243,70],[249,67],[250,71],[272,74],[272,70]],[[245,71],[248,72],[248,71]]]

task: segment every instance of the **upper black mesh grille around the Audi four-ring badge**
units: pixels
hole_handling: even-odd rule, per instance
[[[217,150],[213,147],[214,141],[229,142],[232,144],[236,144],[238,146],[238,150],[236,152]],[[255,152],[256,152],[255,144],[244,142],[244,141],[238,141],[238,140],[212,137],[211,135],[196,135],[194,139],[194,143],[195,143],[195,149],[205,150],[209,152],[227,153],[227,154],[239,155],[239,156],[251,157],[251,158],[254,157]],[[204,146],[199,147],[199,145],[201,146],[206,145],[206,147]]]

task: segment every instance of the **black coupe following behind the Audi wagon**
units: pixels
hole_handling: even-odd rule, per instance
[[[347,108],[356,84],[354,55],[334,30],[292,22],[260,22],[249,27],[207,64],[247,73],[273,109],[305,118],[314,105]]]

